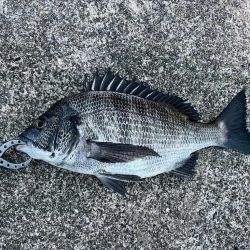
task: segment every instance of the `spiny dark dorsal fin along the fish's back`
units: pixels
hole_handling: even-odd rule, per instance
[[[190,121],[198,121],[200,119],[198,112],[190,103],[186,103],[186,100],[176,95],[164,94],[158,90],[153,90],[144,83],[121,78],[118,74],[113,74],[110,69],[102,77],[97,70],[93,80],[87,84],[86,91],[113,91],[135,95],[155,102],[170,104],[184,115],[187,115]]]

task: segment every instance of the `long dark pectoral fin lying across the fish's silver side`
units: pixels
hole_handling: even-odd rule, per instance
[[[132,144],[88,141],[89,158],[101,162],[128,162],[145,156],[159,156],[153,149]]]

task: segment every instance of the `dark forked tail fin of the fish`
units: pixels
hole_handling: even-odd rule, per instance
[[[215,122],[225,131],[223,147],[250,154],[250,133],[246,127],[245,89],[234,97]]]

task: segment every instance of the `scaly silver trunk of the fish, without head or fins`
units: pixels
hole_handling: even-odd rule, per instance
[[[107,172],[150,177],[175,169],[191,153],[218,146],[223,140],[223,129],[218,126],[191,122],[169,105],[137,96],[93,91],[72,97],[68,103],[81,117],[78,126],[81,143],[72,152],[74,165],[65,160],[63,167],[85,174]],[[84,157],[80,156],[87,140],[145,146],[159,157],[103,163],[88,158],[86,149]]]

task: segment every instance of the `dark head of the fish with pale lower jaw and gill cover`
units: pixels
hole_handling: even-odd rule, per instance
[[[17,150],[34,159],[58,165],[79,142],[78,124],[76,111],[59,102],[18,136],[25,144],[17,146]]]

